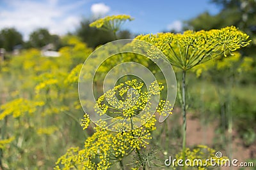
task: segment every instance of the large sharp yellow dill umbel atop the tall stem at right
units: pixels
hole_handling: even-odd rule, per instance
[[[210,31],[185,31],[183,34],[147,34],[137,36],[135,39],[156,46],[173,66],[186,71],[220,55],[226,57],[227,53],[249,45],[248,38],[248,35],[231,26]],[[150,51],[149,56],[152,55],[152,50]]]

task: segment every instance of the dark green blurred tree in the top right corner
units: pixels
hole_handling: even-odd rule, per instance
[[[253,39],[252,45],[242,50],[244,55],[255,55],[253,48],[256,46],[256,1],[212,0],[211,3],[220,6],[220,13],[210,15],[208,12],[204,12],[198,17],[188,20],[185,29],[200,31],[234,25],[241,31],[246,32],[250,39]]]

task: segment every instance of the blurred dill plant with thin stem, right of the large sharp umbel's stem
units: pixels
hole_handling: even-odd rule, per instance
[[[234,52],[232,55],[227,57],[218,57],[216,60],[200,64],[193,68],[196,76],[207,76],[211,78],[216,85],[216,92],[218,94],[218,105],[220,107],[220,132],[221,141],[226,143],[228,148],[228,157],[232,159],[232,133],[235,129],[234,127],[234,115],[236,111],[234,110],[235,93],[234,88],[239,79],[244,73],[252,71],[253,69],[253,58],[243,57],[241,53]],[[212,76],[214,75],[214,76]],[[220,85],[220,83],[222,85]],[[236,127],[239,129],[239,127]],[[225,131],[227,130],[227,136]]]

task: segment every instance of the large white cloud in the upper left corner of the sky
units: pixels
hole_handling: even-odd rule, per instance
[[[80,20],[79,16],[68,14],[84,3],[86,1],[77,1],[61,6],[58,0],[6,1],[9,9],[1,9],[0,29],[15,27],[22,32],[25,40],[28,40],[32,31],[40,27],[49,29],[52,34],[65,34],[73,31]]]

